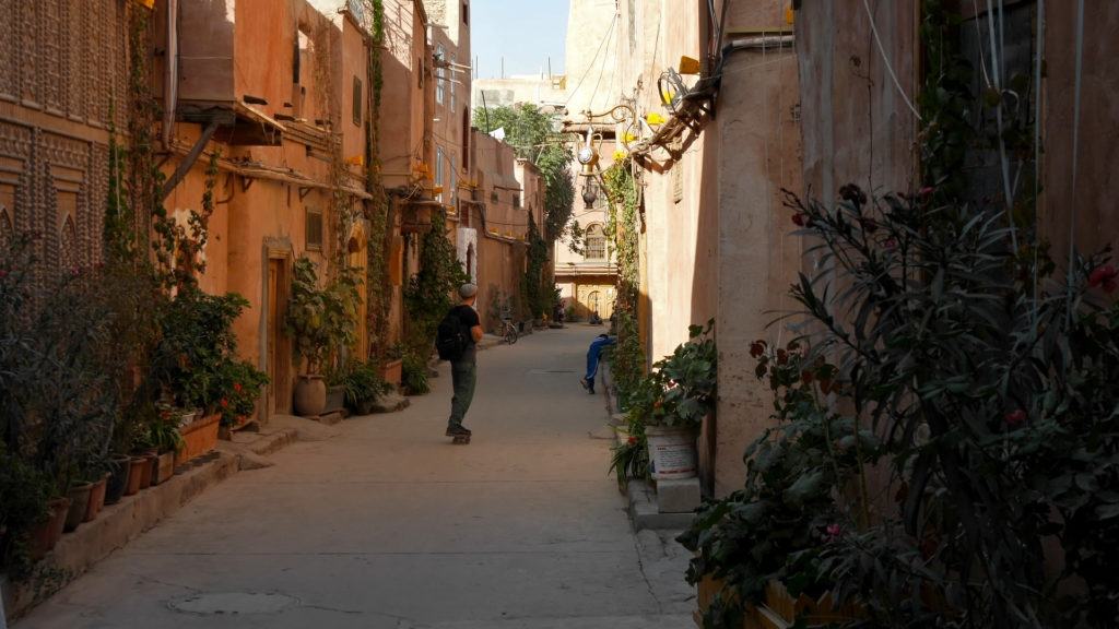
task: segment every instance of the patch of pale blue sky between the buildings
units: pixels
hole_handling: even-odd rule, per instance
[[[568,0],[473,0],[470,47],[476,78],[564,72]]]

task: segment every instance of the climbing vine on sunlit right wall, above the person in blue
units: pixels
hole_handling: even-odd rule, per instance
[[[637,392],[645,374],[645,351],[641,349],[638,325],[640,299],[638,197],[628,161],[611,166],[603,173],[603,182],[610,197],[606,240],[612,243],[611,255],[617,255],[618,259],[618,301],[614,304],[618,346],[611,356],[611,366],[624,409]]]

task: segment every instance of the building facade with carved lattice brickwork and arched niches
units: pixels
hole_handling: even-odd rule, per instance
[[[4,6],[0,250],[17,234],[37,234],[43,273],[87,267],[101,260],[110,129],[125,109],[129,17],[145,9],[117,0]]]

